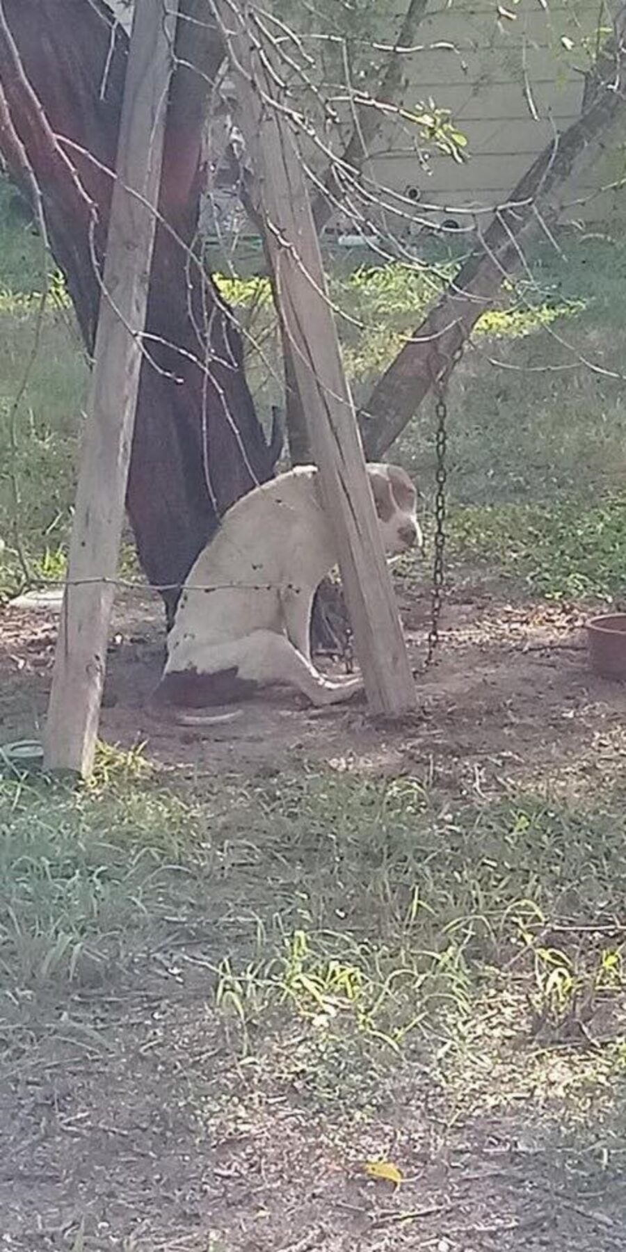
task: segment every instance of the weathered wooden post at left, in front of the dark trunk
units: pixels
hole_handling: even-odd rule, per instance
[[[178,0],[135,0],[44,765],[93,766],[133,442]],[[133,194],[136,193],[136,194]]]

